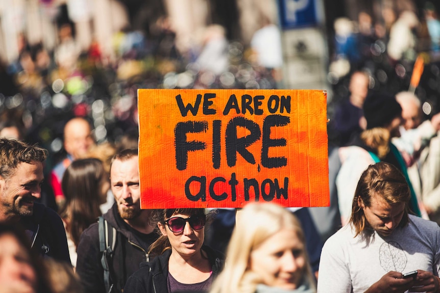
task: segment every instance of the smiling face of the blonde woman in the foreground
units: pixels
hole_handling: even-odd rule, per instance
[[[282,229],[251,252],[250,269],[265,285],[295,289],[306,269],[304,244],[293,229]]]

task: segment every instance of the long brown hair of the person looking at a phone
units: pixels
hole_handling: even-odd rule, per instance
[[[360,176],[354,193],[350,223],[355,228],[355,237],[365,228],[366,221],[360,198],[365,206],[371,206],[372,197],[381,196],[388,204],[405,203],[405,210],[398,227],[408,225],[409,199],[411,192],[403,174],[394,165],[379,162],[370,165]]]

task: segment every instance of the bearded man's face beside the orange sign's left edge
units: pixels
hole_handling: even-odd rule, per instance
[[[111,190],[117,203],[119,215],[124,220],[136,219],[141,213],[138,167],[138,156],[126,161],[117,159],[111,166]]]

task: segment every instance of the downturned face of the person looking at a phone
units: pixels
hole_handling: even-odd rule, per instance
[[[373,195],[371,206],[365,206],[360,198],[358,204],[365,220],[381,236],[389,236],[399,226],[405,211],[404,202],[390,205],[379,195]]]

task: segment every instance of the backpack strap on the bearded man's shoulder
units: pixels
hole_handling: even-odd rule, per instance
[[[99,217],[100,251],[102,252],[101,264],[104,269],[104,284],[106,292],[110,293],[113,284],[110,280],[110,262],[113,257],[113,250],[116,243],[116,229],[112,227],[103,217]]]

